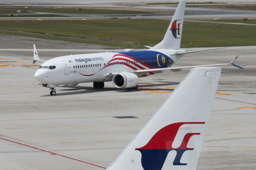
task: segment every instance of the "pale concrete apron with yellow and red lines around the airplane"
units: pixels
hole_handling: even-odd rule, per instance
[[[123,49],[3,34],[0,41],[0,165],[5,170],[108,167],[190,71],[143,77],[137,90],[116,89],[112,82],[103,89],[82,83],[57,87],[51,96],[34,78],[41,63],[33,65],[33,44],[43,60]],[[256,46],[191,53],[173,65],[228,63],[242,48],[237,65],[244,70],[222,68],[198,170],[256,169]],[[185,50],[198,49],[206,48]]]

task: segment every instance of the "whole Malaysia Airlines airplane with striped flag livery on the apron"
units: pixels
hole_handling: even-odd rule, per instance
[[[182,68],[219,65],[239,67],[234,64],[238,57],[236,56],[230,63],[225,64],[171,68],[184,54],[213,50],[185,51],[180,49],[185,4],[185,1],[179,2],[164,39],[153,47],[146,46],[150,48],[147,50],[125,49],[120,52],[68,55],[45,61],[39,59],[34,44],[33,63],[44,62],[34,77],[42,83],[43,87],[50,88],[50,95],[54,96],[56,85],[73,87],[79,83],[93,82],[94,88],[104,88],[104,82],[113,81],[114,87],[118,89],[137,89],[140,77],[162,73],[164,70],[181,71]]]

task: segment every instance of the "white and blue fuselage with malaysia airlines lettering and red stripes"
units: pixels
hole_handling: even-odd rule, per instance
[[[108,73],[167,68],[181,58],[185,50],[140,50],[79,54],[52,58],[39,67],[35,78],[43,84],[63,85],[112,81]],[[144,73],[148,76],[153,73]]]

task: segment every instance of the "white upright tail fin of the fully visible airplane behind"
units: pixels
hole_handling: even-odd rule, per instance
[[[179,49],[186,1],[180,1],[164,39],[150,49]]]

